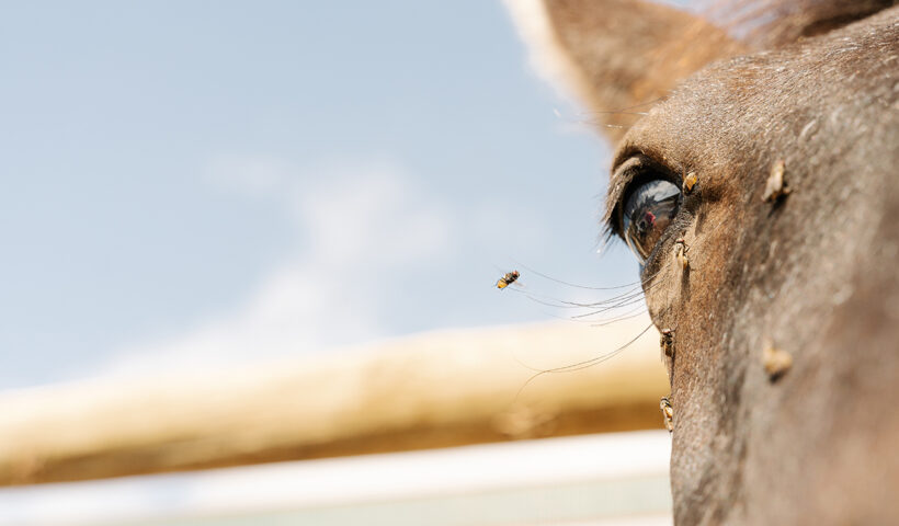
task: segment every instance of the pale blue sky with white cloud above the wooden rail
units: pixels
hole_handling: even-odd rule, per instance
[[[564,315],[493,288],[520,264],[637,277],[499,2],[19,2],[0,67],[0,389]]]

